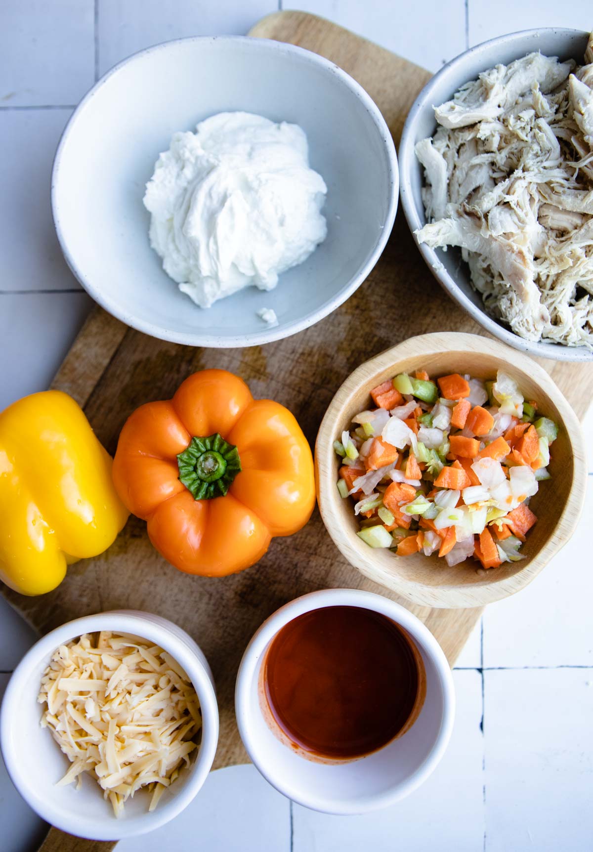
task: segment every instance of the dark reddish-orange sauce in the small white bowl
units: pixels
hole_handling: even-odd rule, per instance
[[[409,727],[422,706],[421,666],[406,633],[384,615],[321,607],[279,630],[263,687],[280,739],[311,757],[353,759]]]

